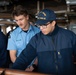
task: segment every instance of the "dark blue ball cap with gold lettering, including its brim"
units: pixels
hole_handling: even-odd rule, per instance
[[[43,9],[37,14],[37,21],[35,24],[42,25],[54,20],[56,20],[56,14],[54,11],[50,9]]]

